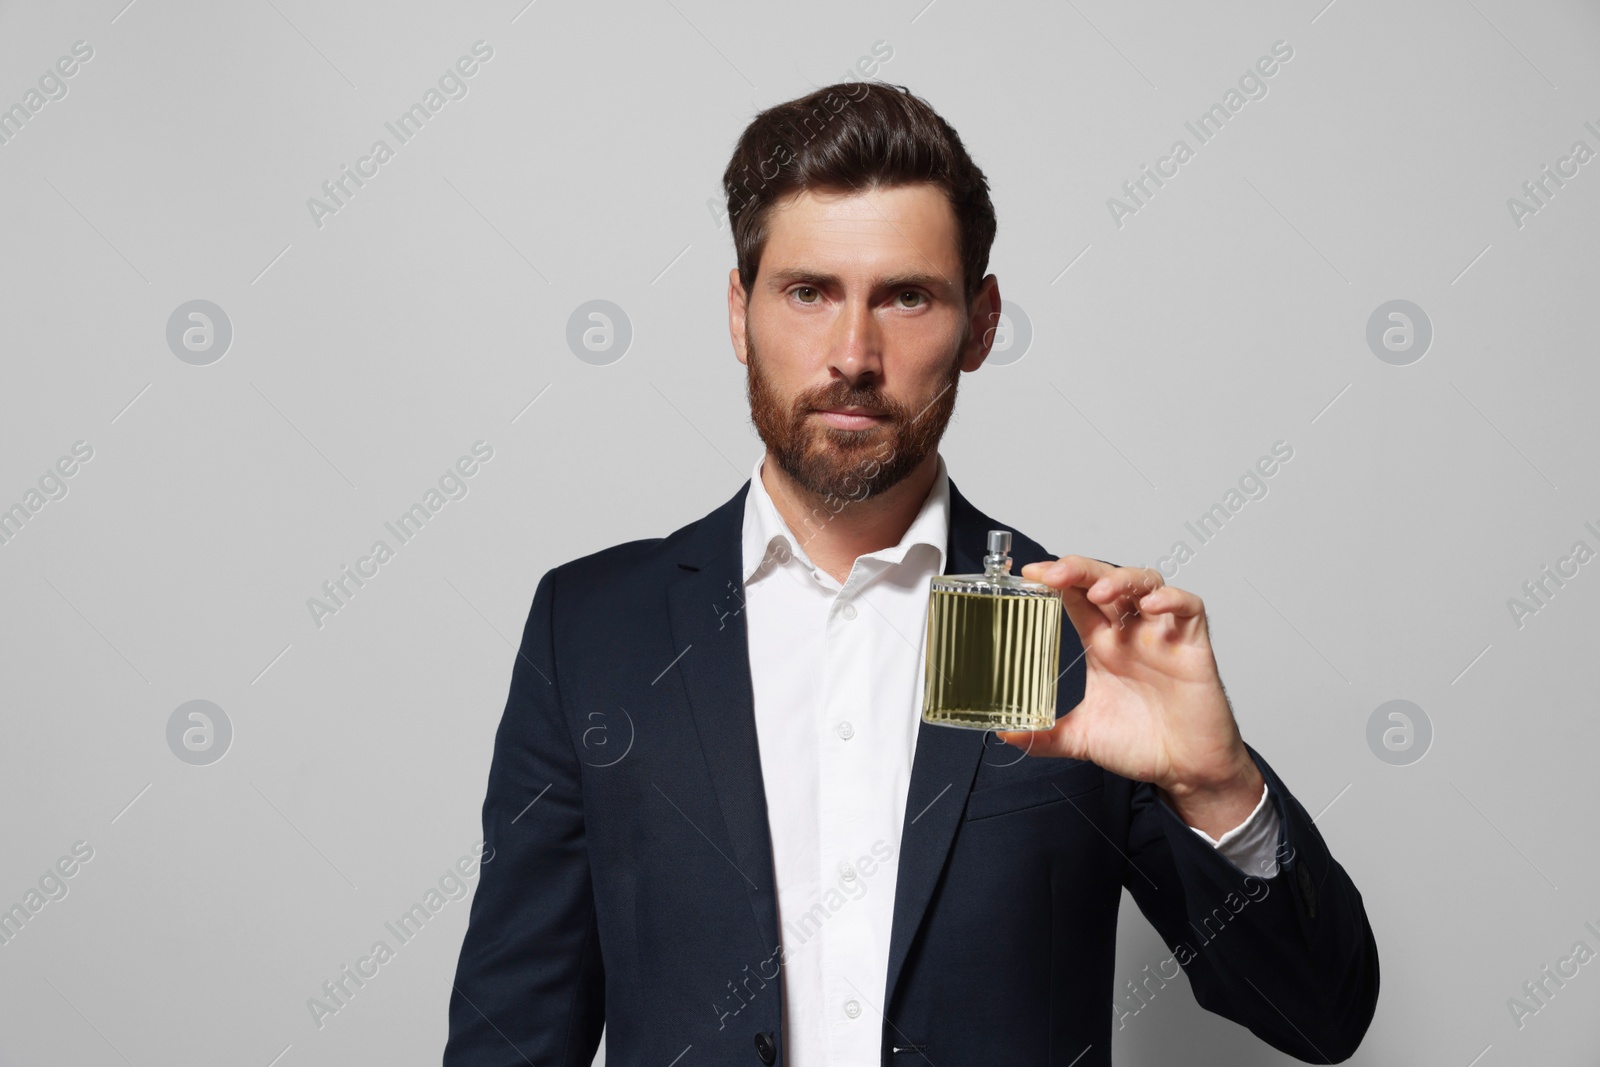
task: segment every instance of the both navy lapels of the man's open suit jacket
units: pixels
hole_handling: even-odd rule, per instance
[[[982,569],[982,560],[971,545],[984,544],[990,520],[957,491],[954,480],[949,488],[944,573],[973,574]],[[694,717],[733,851],[730,859],[744,875],[763,944],[776,949],[778,894],[744,617],[742,530],[749,490],[746,480],[726,504],[685,536],[677,555],[682,573],[667,587],[667,614],[678,649],[672,670]],[[955,840],[984,739],[986,734],[976,729],[918,723],[894,886],[885,1011]]]

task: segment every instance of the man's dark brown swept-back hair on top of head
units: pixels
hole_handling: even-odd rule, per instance
[[[746,293],[766,245],[773,203],[805,190],[851,192],[933,182],[955,211],[968,301],[989,270],[995,210],[960,136],[902,85],[842,82],[776,104],[744,128],[722,187]]]

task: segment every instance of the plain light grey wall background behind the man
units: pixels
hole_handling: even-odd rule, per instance
[[[1032,323],[963,379],[968,496],[1155,565],[1294,450],[1173,582],[1363,893],[1382,998],[1352,1062],[1594,1062],[1600,965],[1507,1008],[1600,950],[1600,563],[1507,605],[1600,547],[1600,162],[1507,206],[1600,150],[1592,3],[125,3],[0,5],[0,106],[93,48],[0,146],[0,507],[93,448],[0,545],[0,905],[93,848],[0,945],[0,1064],[437,1062],[466,899],[320,1027],[307,998],[477,843],[539,576],[746,478],[707,200],[758,107],[875,42],[987,171]],[[478,40],[467,94],[318,227],[307,198]],[[1118,227],[1107,198],[1280,40],[1269,93]],[[205,366],[166,342],[194,299],[232,323]],[[632,325],[610,365],[566,344],[590,299]],[[1394,299],[1434,330],[1408,366],[1366,344]],[[466,498],[314,624],[480,440]],[[232,725],[205,766],[166,739],[197,699]],[[1368,745],[1392,699],[1434,731],[1405,766]],[[1130,901],[1118,976],[1168,955]],[[1290,1062],[1182,979],[1115,1056]]]

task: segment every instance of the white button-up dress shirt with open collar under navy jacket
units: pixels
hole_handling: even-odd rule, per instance
[[[778,514],[763,462],[744,502],[742,574],[784,942],[784,1062],[875,1064],[949,475],[939,456],[901,542],[858,557],[840,585],[805,552],[816,526],[795,536]],[[1278,819],[1266,800],[1262,787],[1256,809],[1221,841],[1195,833],[1240,869],[1270,877]]]

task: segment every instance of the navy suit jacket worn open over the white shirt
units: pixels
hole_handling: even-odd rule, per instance
[[[749,488],[539,581],[494,736],[446,1067],[589,1067],[602,1027],[608,1067],[782,1061],[766,811],[786,800],[765,793],[757,747]],[[952,482],[946,573],[981,573],[1005,528]],[[1013,573],[1056,558],[1016,531],[1011,555]],[[1066,715],[1085,667],[1061,629]],[[1272,878],[1149,784],[922,723],[888,981],[861,990],[882,1067],[1109,1065],[1114,1022],[1163,981],[1114,974],[1123,888],[1203,1008],[1306,1062],[1354,1054],[1378,1001],[1362,896],[1250,752],[1282,821]]]

